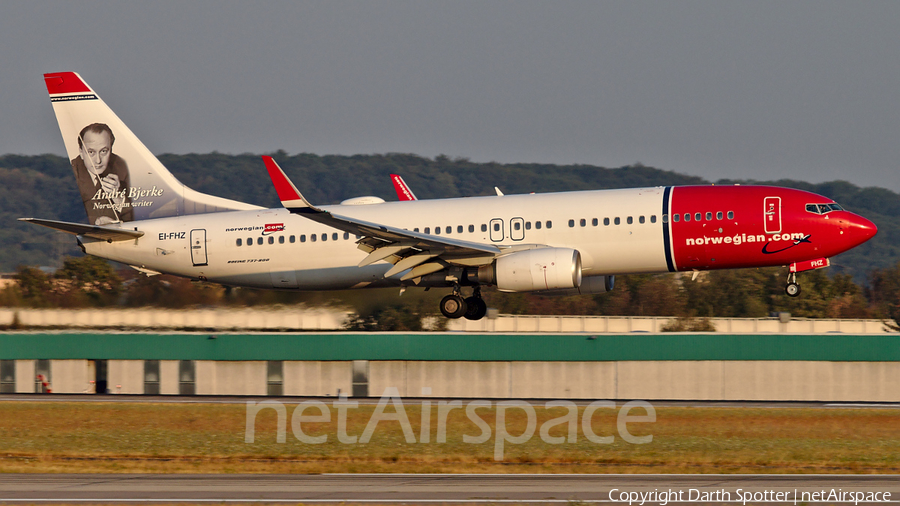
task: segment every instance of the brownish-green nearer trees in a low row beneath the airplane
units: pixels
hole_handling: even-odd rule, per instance
[[[0,290],[0,305],[36,308],[254,306],[305,304],[346,308],[356,314],[354,328],[418,330],[421,319],[437,316],[445,291],[397,289],[286,292],[228,289],[174,276],[116,269],[96,257],[67,257],[55,273],[20,266],[15,283]],[[545,296],[483,290],[488,307],[503,314],[765,317],[789,312],[808,318],[900,319],[900,263],[876,269],[866,284],[849,274],[825,270],[801,274],[803,293],[784,294],[787,269],[778,267],[690,273],[619,276],[608,293]]]

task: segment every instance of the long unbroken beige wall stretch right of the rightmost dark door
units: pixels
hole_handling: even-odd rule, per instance
[[[370,397],[396,387],[409,397],[900,402],[897,362],[371,362],[370,371]]]

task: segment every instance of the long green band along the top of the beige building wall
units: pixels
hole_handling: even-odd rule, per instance
[[[900,335],[9,332],[0,359],[896,362]]]

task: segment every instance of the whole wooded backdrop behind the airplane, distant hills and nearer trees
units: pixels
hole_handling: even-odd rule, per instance
[[[272,153],[311,201],[333,204],[377,195],[396,200],[389,174],[403,176],[419,198],[552,192],[640,186],[709,184],[701,178],[641,164],[620,168],[589,165],[475,163],[413,154],[319,156]],[[186,185],[213,195],[266,207],[280,206],[258,155],[220,153],[162,155],[160,160]],[[0,156],[0,271],[15,271],[17,284],[0,291],[0,304],[28,307],[306,304],[347,308],[352,328],[417,330],[437,314],[446,290],[396,289],[290,293],[226,289],[172,276],[144,277],[108,262],[81,256],[73,238],[16,221],[40,217],[84,222],[68,160],[55,155]],[[742,269],[690,275],[617,278],[613,292],[577,297],[501,294],[484,291],[489,307],[506,314],[594,314],[623,316],[759,317],[787,311],[798,317],[900,317],[900,195],[859,188],[844,181],[733,181],[773,184],[819,193],[871,219],[878,235],[832,259],[826,270],[800,275],[803,293],[784,295],[786,269]],[[39,269],[49,266],[56,269]],[[440,320],[440,319],[438,319]]]

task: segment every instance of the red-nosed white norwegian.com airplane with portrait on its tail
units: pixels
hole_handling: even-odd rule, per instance
[[[441,313],[477,320],[485,286],[591,294],[619,274],[787,265],[785,292],[797,296],[797,273],[877,232],[827,197],[751,185],[316,206],[269,156],[283,207],[264,209],[185,187],[78,74],[44,79],[88,223],[22,220],[148,275],[280,290],[445,288]]]

